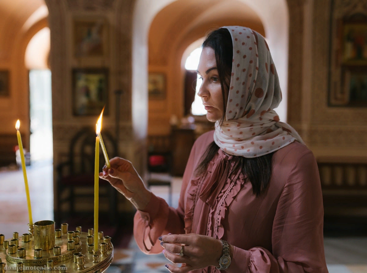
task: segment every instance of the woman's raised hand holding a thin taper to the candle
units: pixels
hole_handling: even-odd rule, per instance
[[[145,187],[130,161],[115,157],[110,160],[111,168],[103,167],[99,177],[107,180],[117,191],[123,194],[139,210],[143,210],[150,201],[152,193]]]

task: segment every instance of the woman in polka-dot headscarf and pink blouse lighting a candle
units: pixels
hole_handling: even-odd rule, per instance
[[[137,244],[183,264],[170,272],[327,272],[316,161],[273,110],[281,90],[265,39],[240,26],[215,30],[198,73],[215,130],[192,148],[178,208],[124,159],[101,173],[138,209]]]

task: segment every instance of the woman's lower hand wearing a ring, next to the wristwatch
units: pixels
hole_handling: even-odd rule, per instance
[[[219,266],[223,248],[221,241],[210,237],[191,234],[168,234],[159,237],[164,247],[164,256],[172,263],[182,263],[181,267],[166,265],[173,273],[186,273],[191,270],[201,269],[207,266]],[[181,257],[181,245],[183,256]]]

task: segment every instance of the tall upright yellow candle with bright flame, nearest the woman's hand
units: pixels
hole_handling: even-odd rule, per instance
[[[94,157],[94,250],[98,251],[98,198],[99,198],[99,133],[101,133],[102,115],[95,125],[95,157]]]

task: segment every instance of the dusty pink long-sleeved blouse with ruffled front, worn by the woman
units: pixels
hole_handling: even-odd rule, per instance
[[[196,140],[177,209],[152,195],[146,210],[137,211],[134,237],[139,248],[157,254],[163,250],[159,236],[197,233],[234,246],[229,273],[328,272],[320,177],[312,152],[298,142],[276,151],[268,188],[256,197],[246,176],[240,173],[235,181],[228,177],[231,156],[221,150],[204,177],[194,175],[212,141],[213,131]],[[191,272],[219,270],[210,266]]]

